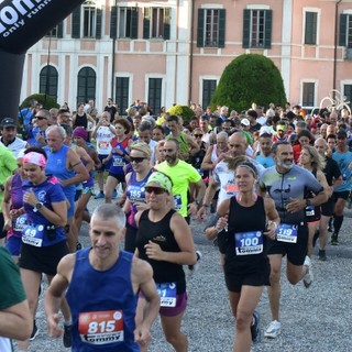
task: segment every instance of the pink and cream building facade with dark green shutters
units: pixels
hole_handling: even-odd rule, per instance
[[[319,107],[331,89],[352,101],[351,0],[85,1],[50,34],[26,54],[22,99],[206,107],[224,67],[255,53],[278,67],[292,105]]]

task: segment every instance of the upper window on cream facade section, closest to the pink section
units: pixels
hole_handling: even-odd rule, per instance
[[[169,40],[170,9],[145,8],[143,19],[143,38]]]

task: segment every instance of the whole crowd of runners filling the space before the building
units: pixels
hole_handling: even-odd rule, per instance
[[[272,321],[264,337],[277,338],[283,260],[288,282],[309,288],[314,248],[326,261],[327,243],[339,244],[352,118],[348,109],[312,117],[289,103],[190,108],[194,118],[184,121],[165,109],[153,117],[139,100],[123,117],[112,99],[101,113],[91,100],[76,111],[33,101],[20,111],[22,139],[16,119],[2,119],[0,228],[9,253],[1,250],[0,277],[9,289],[0,294],[1,351],[11,351],[11,339],[28,351],[37,337],[44,277],[48,333],[64,346],[147,351],[160,316],[166,341],[188,351],[187,277],[207,261],[190,221],[204,222],[219,250],[233,351],[262,339],[255,308],[265,286]],[[91,197],[101,204],[90,215]]]

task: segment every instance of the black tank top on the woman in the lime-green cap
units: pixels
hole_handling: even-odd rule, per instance
[[[166,216],[157,222],[153,222],[148,219],[148,209],[142,212],[136,234],[136,248],[140,252],[140,258],[152,265],[156,284],[176,283],[177,295],[184,294],[186,292],[186,279],[183,265],[151,260],[145,254],[144,248],[148,241],[153,241],[154,243],[157,243],[163,251],[180,252],[169,227],[170,219],[176,210],[170,209]]]

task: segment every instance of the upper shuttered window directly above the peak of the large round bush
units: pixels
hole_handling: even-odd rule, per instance
[[[244,48],[272,47],[272,10],[243,11],[243,42]]]

